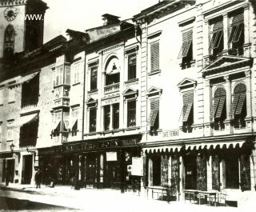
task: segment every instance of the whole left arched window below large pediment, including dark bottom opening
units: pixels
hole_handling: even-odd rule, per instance
[[[223,130],[226,119],[226,90],[218,87],[214,92],[214,101],[210,112],[210,120],[213,122],[214,130]]]

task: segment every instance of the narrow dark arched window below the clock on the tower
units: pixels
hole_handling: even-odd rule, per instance
[[[3,44],[4,58],[11,58],[11,56],[14,54],[14,41],[15,41],[14,26],[8,25],[6,27],[5,35],[4,35],[4,44]]]

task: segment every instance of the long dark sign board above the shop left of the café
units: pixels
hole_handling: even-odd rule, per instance
[[[89,150],[104,150],[115,149],[129,146],[138,146],[141,141],[141,135],[126,138],[113,138],[102,141],[89,141],[80,143],[63,143],[62,146],[55,146],[55,152],[74,152],[74,151],[89,151]]]

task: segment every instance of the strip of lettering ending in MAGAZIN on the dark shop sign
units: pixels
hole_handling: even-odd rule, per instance
[[[114,148],[122,146],[136,146],[138,145],[138,138],[125,138],[125,139],[114,139],[102,142],[85,142],[78,144],[63,145],[61,148],[62,152],[72,152],[80,150],[97,150],[104,148]]]

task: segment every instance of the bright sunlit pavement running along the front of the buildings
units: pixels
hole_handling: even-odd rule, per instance
[[[246,206],[234,208],[229,206],[206,206],[196,205],[190,202],[165,202],[152,199],[146,199],[144,193],[138,196],[138,193],[126,192],[121,194],[120,190],[109,189],[85,189],[74,190],[71,186],[55,186],[50,188],[42,186],[41,189],[36,189],[32,185],[10,184],[4,186],[0,183],[1,190],[14,190],[33,194],[33,197],[38,197],[38,201],[54,202],[59,206],[70,206],[78,210],[86,211],[170,211],[170,210],[189,210],[192,211],[245,211],[253,210],[255,202],[248,202]],[[24,193],[24,195],[25,195]],[[21,195],[22,196],[22,195]],[[31,196],[31,195],[30,195]]]

